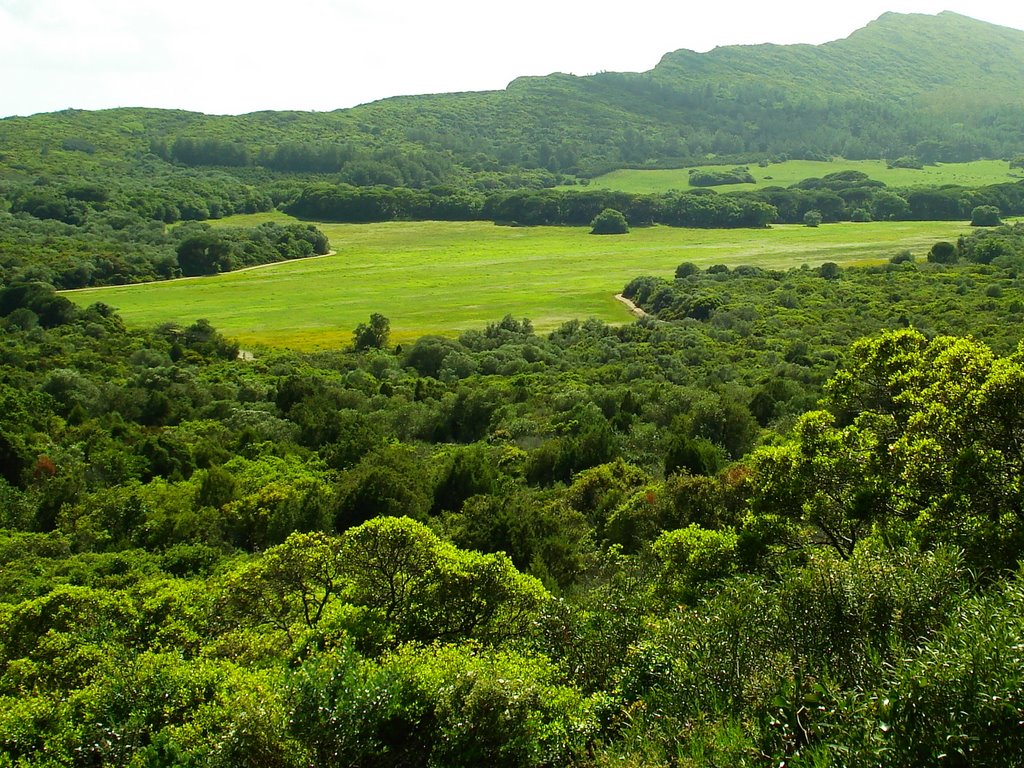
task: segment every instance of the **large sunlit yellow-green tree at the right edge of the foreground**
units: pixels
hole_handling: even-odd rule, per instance
[[[844,557],[907,525],[973,567],[1014,567],[1024,541],[1024,368],[972,339],[897,331],[853,345],[796,442],[759,449],[753,506],[795,512]],[[844,426],[847,425],[847,426]],[[896,521],[899,522],[896,522]]]

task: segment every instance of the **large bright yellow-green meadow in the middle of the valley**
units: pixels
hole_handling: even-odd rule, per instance
[[[221,224],[285,220],[238,216]],[[392,340],[455,335],[511,313],[539,331],[570,318],[630,321],[614,299],[640,274],[670,276],[683,261],[768,267],[886,259],[909,249],[924,258],[958,222],[839,223],[817,228],[637,228],[598,237],[586,227],[506,227],[469,222],[321,224],[337,251],[244,272],[68,292],[102,301],[131,326],[209,319],[244,344],[338,347],[371,312],[391,321]]]

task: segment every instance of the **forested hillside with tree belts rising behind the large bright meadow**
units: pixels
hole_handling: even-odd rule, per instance
[[[952,13],[887,14],[820,46],[677,51],[644,74],[552,75],[504,91],[385,99],[329,114],[123,109],[0,121],[0,279],[81,288],[324,253],[323,236],[166,224],[284,209],[312,221],[492,220],[763,227],[1024,213],[1024,33]],[[847,171],[719,195],[585,190],[625,166],[1001,158],[981,188],[887,187]],[[770,175],[770,174],[769,174]],[[551,189],[561,184],[559,189]],[[305,244],[303,243],[305,241]]]

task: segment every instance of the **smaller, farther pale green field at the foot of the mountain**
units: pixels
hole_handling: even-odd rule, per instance
[[[712,169],[721,166],[702,166]],[[727,166],[732,167],[732,166]],[[790,186],[806,178],[820,178],[838,171],[861,171],[888,186],[932,186],[938,184],[964,184],[982,186],[1024,178],[1020,169],[1010,170],[1002,160],[978,160],[973,163],[948,163],[926,166],[918,171],[911,168],[886,168],[881,160],[834,160],[830,163],[813,160],[791,160],[767,168],[749,165],[756,184],[724,184],[713,188],[719,191],[757,189],[764,186]],[[592,187],[618,189],[628,193],[662,193],[669,189],[689,189],[689,168],[667,171],[621,170],[606,173],[591,180]],[[579,188],[579,187],[570,187]]]

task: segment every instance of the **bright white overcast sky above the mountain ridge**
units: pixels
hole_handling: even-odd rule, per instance
[[[1019,0],[0,0],[0,117],[327,112],[522,75],[643,72],[679,48],[823,43],[886,11],[942,10],[1024,29]]]

